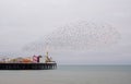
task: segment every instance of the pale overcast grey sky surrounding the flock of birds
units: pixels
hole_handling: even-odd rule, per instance
[[[0,55],[17,53],[57,27],[79,20],[104,22],[121,38],[106,49],[53,52],[60,64],[131,64],[130,0],[0,0]]]

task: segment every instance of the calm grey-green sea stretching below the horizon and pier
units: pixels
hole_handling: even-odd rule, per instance
[[[0,84],[131,84],[131,65],[58,65],[56,70],[0,70]]]

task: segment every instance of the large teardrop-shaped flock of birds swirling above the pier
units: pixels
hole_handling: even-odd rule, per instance
[[[53,51],[88,50],[109,47],[118,43],[120,34],[108,24],[79,21],[61,26],[43,39],[26,45],[26,51]]]

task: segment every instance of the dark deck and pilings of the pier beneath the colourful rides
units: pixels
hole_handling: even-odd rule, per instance
[[[57,63],[0,63],[0,70],[53,70]]]

